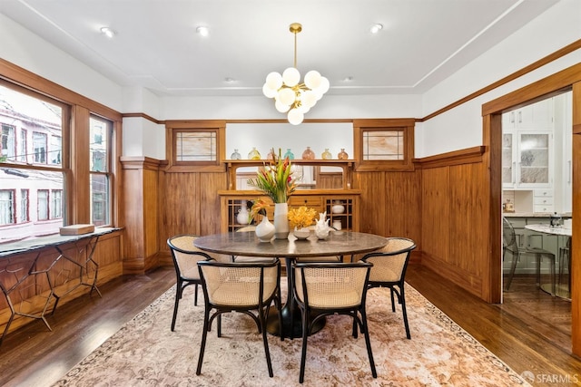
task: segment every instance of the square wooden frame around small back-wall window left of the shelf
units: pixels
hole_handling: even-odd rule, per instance
[[[216,135],[216,160],[182,161],[177,160],[176,141],[178,133],[182,132],[213,132]],[[166,154],[168,155],[168,171],[224,172],[226,154],[226,121],[222,120],[191,120],[165,121]]]

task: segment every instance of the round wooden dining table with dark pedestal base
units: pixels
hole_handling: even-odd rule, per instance
[[[281,337],[300,337],[302,332],[300,311],[294,300],[294,276],[292,262],[297,258],[315,258],[318,256],[352,256],[364,254],[385,247],[388,244],[386,237],[374,234],[334,231],[329,237],[319,239],[311,235],[306,239],[297,239],[292,234],[287,239],[271,239],[270,242],[261,242],[254,232],[229,232],[198,237],[194,241],[195,247],[203,251],[229,256],[258,256],[281,258],[287,267],[287,301],[282,306],[282,326],[278,322],[277,314],[270,314],[267,322],[267,331]],[[325,322],[313,328],[315,333],[324,326]]]

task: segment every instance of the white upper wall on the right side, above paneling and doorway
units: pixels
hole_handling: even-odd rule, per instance
[[[458,73],[426,92],[423,95],[422,115],[426,116],[476,92],[580,38],[581,1],[561,0]],[[581,52],[578,51],[424,122],[416,130],[416,157],[481,145],[481,107],[484,103],[576,63],[581,63]]]

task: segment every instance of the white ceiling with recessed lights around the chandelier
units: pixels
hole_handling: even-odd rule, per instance
[[[0,12],[114,82],[158,95],[261,95],[268,73],[293,64],[298,22],[300,73],[318,70],[329,93],[355,95],[426,92],[557,1],[0,0]]]

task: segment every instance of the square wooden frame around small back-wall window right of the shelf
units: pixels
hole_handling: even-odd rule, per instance
[[[410,171],[414,170],[415,119],[353,120],[353,150],[356,171]],[[403,160],[363,160],[365,133],[369,131],[401,131],[403,133]]]

